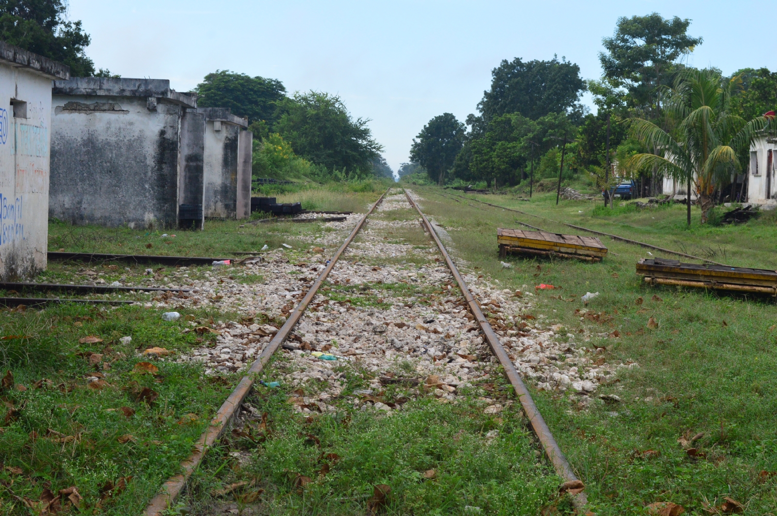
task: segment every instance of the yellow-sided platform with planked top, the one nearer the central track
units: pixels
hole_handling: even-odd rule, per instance
[[[607,248],[593,236],[497,228],[497,242],[501,256],[517,253],[599,262],[607,255]]]

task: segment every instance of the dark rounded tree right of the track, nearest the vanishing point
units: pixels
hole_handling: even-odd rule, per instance
[[[430,179],[434,180],[432,174],[436,175],[437,183],[442,186],[445,173],[462,148],[464,124],[451,113],[442,113],[429,120],[416,138],[410,148],[410,161],[427,169]]]

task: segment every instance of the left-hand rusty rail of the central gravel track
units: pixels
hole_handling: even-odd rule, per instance
[[[389,188],[389,190],[391,189]],[[232,391],[232,394],[229,395],[226,401],[221,405],[221,408],[218,409],[218,412],[213,420],[211,420],[211,424],[207,427],[207,430],[200,435],[200,438],[194,444],[193,454],[181,462],[181,469],[183,469],[183,472],[169,479],[164,486],[162,486],[162,489],[159,490],[159,493],[148,502],[148,506],[144,512],[145,516],[161,516],[162,512],[170,507],[181,490],[183,490],[183,486],[186,485],[186,481],[194,470],[197,469],[197,465],[202,461],[208,448],[221,437],[221,434],[232,421],[232,417],[235,416],[235,412],[237,412],[243,399],[248,396],[256,381],[256,377],[263,370],[264,365],[267,364],[267,361],[270,360],[270,357],[272,357],[275,351],[283,345],[284,340],[286,340],[289,333],[291,333],[291,330],[294,329],[294,326],[298,323],[302,314],[305,312],[305,309],[308,308],[310,302],[315,298],[319,287],[335,267],[335,263],[337,263],[340,255],[342,255],[345,249],[350,245],[350,242],[353,241],[356,234],[364,225],[364,222],[367,221],[367,218],[375,211],[375,207],[378,207],[378,204],[382,202],[383,197],[389,193],[389,190],[386,190],[385,194],[382,194],[382,196],[375,201],[375,204],[373,204],[370,210],[364,214],[364,217],[361,218],[354,230],[350,232],[350,235],[345,239],[345,242],[340,246],[340,249],[337,249],[337,252],[329,259],[329,263],[327,263],[324,270],[319,274],[319,277],[315,279],[308,290],[308,293],[305,294],[305,297],[302,298],[302,301],[299,302],[294,311],[289,314],[286,323],[280,327],[278,333],[270,340],[270,343],[267,344],[267,347],[265,347],[259,357],[256,358],[256,361],[251,364],[249,370],[246,371],[246,375],[242,377],[237,387]]]

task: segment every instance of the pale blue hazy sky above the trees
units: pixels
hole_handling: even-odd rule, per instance
[[[601,39],[621,16],[692,19],[704,43],[688,57],[730,74],[777,69],[774,3],[738,2],[203,2],[70,0],[97,68],[167,78],[189,91],[217,69],[277,78],[288,92],[335,93],[371,120],[396,170],[431,118],[476,113],[503,59],[559,58],[598,78]],[[594,108],[591,97],[583,102]]]

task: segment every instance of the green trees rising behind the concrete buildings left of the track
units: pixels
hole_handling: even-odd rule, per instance
[[[81,21],[67,18],[63,0],[0,0],[0,40],[67,64],[73,77],[119,77],[96,70]],[[354,118],[339,96],[287,95],[274,78],[228,70],[197,85],[198,106],[228,107],[254,133],[253,175],[278,179],[354,180],[392,177],[368,122]]]

